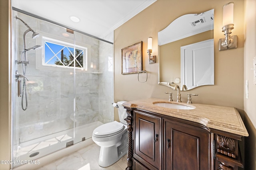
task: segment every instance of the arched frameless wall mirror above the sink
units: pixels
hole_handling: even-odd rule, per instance
[[[214,85],[213,32],[214,9],[181,16],[158,32],[158,84]]]

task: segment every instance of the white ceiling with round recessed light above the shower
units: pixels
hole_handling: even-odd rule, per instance
[[[156,0],[12,0],[12,6],[106,39],[106,35],[154,2]],[[80,22],[71,21],[70,16],[78,17]]]

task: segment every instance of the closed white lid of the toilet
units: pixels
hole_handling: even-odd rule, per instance
[[[106,123],[96,127],[93,131],[93,135],[95,137],[108,137],[112,135],[116,135],[124,130],[124,125],[117,121],[113,121],[110,123]]]

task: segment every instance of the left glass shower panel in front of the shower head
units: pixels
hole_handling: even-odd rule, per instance
[[[65,65],[74,49],[72,33],[14,11],[15,16],[12,155],[16,162],[33,160],[74,143],[75,69]],[[33,39],[36,32],[40,36]],[[36,50],[38,47],[41,49]]]

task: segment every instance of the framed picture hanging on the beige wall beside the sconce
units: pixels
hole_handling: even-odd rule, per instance
[[[142,70],[142,41],[122,49],[122,74],[138,73]]]

